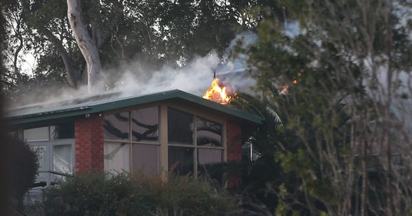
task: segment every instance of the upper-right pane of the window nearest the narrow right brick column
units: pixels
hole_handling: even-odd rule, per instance
[[[196,136],[197,145],[222,146],[222,125],[197,118]]]

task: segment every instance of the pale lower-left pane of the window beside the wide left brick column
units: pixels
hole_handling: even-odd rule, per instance
[[[104,142],[104,170],[130,171],[128,143]]]

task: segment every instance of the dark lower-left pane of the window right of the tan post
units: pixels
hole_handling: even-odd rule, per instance
[[[192,147],[169,146],[169,171],[180,175],[193,173],[194,158]]]

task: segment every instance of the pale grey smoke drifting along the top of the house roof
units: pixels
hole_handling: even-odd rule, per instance
[[[246,56],[229,58],[229,53],[239,42],[242,46],[247,46],[256,40],[257,36],[250,32],[239,34],[233,39],[223,58],[220,58],[216,51],[211,51],[207,56],[197,56],[179,68],[152,65],[137,55],[135,60],[103,69],[102,79],[93,86],[91,92],[87,86],[80,86],[78,89],[59,86],[32,87],[29,94],[23,95],[11,106],[47,104],[114,92],[118,93],[115,97],[126,97],[179,89],[202,96],[213,80],[214,70],[220,84],[227,86],[229,92],[251,93],[255,80],[247,75]]]

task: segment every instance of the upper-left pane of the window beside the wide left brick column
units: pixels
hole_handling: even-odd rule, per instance
[[[104,116],[104,139],[128,139],[128,112]]]

